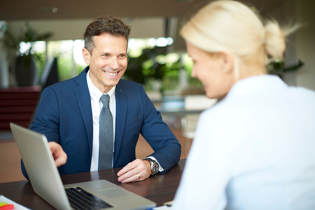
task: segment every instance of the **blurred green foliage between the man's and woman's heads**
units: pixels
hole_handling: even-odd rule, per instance
[[[179,71],[185,69],[189,86],[201,88],[202,84],[192,78],[192,60],[187,54],[165,53],[165,47],[145,48],[132,57],[129,54],[128,67],[124,79],[141,83],[146,91],[172,91],[179,87]],[[182,62],[180,61],[182,56]],[[157,81],[161,83],[157,86]]]

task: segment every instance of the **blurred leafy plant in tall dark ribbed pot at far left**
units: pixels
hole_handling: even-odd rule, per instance
[[[7,48],[15,52],[15,61],[11,65],[10,70],[14,71],[15,79],[18,86],[33,86],[37,84],[37,67],[34,59],[40,60],[41,57],[34,50],[34,43],[36,41],[44,41],[52,36],[52,32],[46,32],[43,34],[38,34],[37,31],[31,27],[31,25],[26,22],[25,29],[20,28],[20,33],[17,37],[6,28],[3,42]],[[20,51],[20,43],[25,42],[26,50]]]

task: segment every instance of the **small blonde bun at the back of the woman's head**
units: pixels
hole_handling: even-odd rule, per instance
[[[285,34],[276,21],[269,21],[265,25],[265,48],[272,58],[283,56],[285,50]]]

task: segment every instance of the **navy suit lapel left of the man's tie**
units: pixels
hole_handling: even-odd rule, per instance
[[[89,146],[90,146],[90,158],[92,158],[92,148],[93,148],[93,119],[92,119],[92,107],[91,107],[91,97],[89,93],[88,83],[86,81],[86,73],[89,71],[89,66],[87,66],[77,77],[74,91],[77,96],[77,102],[81,111],[85,129],[88,133]]]

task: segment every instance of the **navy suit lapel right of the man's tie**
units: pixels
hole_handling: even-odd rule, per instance
[[[115,165],[117,156],[120,150],[120,145],[123,140],[123,131],[125,128],[126,114],[127,114],[127,98],[124,89],[120,82],[116,86],[116,128],[115,128],[115,150],[114,162]]]

